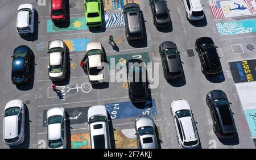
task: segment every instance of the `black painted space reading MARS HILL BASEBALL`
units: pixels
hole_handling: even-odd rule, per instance
[[[256,60],[229,62],[235,83],[251,82],[256,79]]]

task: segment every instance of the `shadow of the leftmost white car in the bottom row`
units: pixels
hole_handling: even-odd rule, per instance
[[[30,120],[30,113],[28,111],[28,107],[25,104],[25,128],[24,128],[24,141],[20,145],[10,146],[11,149],[28,149],[30,148],[30,123],[32,122]]]

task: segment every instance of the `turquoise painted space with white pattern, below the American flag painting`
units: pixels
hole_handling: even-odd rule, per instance
[[[216,27],[221,36],[251,33],[256,32],[256,19],[217,23]]]

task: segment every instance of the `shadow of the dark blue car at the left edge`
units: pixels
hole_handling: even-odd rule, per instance
[[[32,51],[32,50],[31,50]],[[28,79],[27,83],[16,85],[16,88],[20,91],[28,91],[33,89],[34,87],[34,80],[35,80],[35,54],[31,52],[31,59],[30,59],[30,79]]]

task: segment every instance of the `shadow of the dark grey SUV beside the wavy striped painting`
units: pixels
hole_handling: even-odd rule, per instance
[[[141,13],[141,17],[142,17],[142,28],[143,28],[144,38],[142,40],[128,41],[129,45],[131,45],[131,47],[134,47],[134,48],[147,47],[147,31],[146,31],[144,16],[142,13]]]

